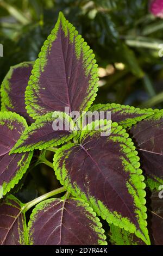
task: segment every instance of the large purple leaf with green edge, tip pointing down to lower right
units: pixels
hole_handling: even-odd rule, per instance
[[[139,157],[117,123],[111,124],[110,136],[102,137],[96,128],[104,122],[96,120],[93,131],[82,131],[78,144],[69,143],[57,150],[55,174],[73,196],[88,202],[108,223],[135,233],[149,244]]]

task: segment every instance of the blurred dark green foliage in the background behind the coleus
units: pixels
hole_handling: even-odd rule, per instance
[[[61,10],[96,55],[96,103],[163,108],[163,20],[149,13],[148,5],[148,0],[0,0],[0,83],[11,65],[37,58]],[[43,166],[41,174],[32,174],[40,194],[57,186],[51,172]],[[33,179],[30,197],[36,197]]]

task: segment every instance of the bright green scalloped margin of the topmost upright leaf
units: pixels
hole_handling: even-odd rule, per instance
[[[28,86],[26,88],[25,93],[25,102],[26,102],[26,109],[27,113],[32,117],[33,119],[39,119],[40,115],[37,114],[34,109],[39,109],[39,105],[37,105],[34,102],[34,95],[33,95],[33,89],[36,93],[39,93],[39,77],[40,72],[43,72],[47,63],[46,54],[48,51],[51,50],[52,43],[57,38],[57,32],[60,26],[60,22],[62,25],[62,29],[65,33],[65,36],[67,36],[68,31],[70,32],[70,44],[73,42],[73,36],[76,36],[75,39],[75,48],[76,48],[76,57],[79,59],[80,53],[83,53],[83,62],[84,62],[84,68],[85,68],[85,75],[89,74],[90,70],[90,76],[91,79],[89,81],[89,86],[91,90],[90,95],[87,96],[89,98],[89,102],[87,102],[87,98],[85,98],[85,101],[83,102],[82,107],[85,105],[85,102],[87,102],[87,106],[85,109],[82,109],[82,111],[87,111],[90,106],[92,105],[93,101],[95,100],[96,93],[98,91],[98,65],[96,64],[95,54],[92,53],[92,50],[90,50],[90,47],[87,45],[87,43],[84,41],[81,35],[78,35],[78,32],[76,31],[76,28],[73,27],[73,25],[68,22],[65,19],[64,14],[59,13],[58,21],[52,30],[51,34],[48,36],[47,40],[44,42],[41,52],[39,53],[39,58],[36,59],[32,75],[29,78]],[[92,67],[93,66],[93,67]],[[41,109],[41,108],[40,108]]]

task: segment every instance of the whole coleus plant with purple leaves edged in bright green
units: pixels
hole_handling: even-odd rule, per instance
[[[156,232],[162,201],[155,196],[153,209],[145,206],[145,188],[154,191],[163,184],[163,110],[92,105],[97,90],[95,56],[62,13],[39,58],[12,66],[5,76],[0,114],[1,245],[163,242]],[[65,107],[81,115],[110,111],[112,122],[95,119],[77,131]],[[70,121],[72,129],[53,129],[53,121],[62,115],[64,127]],[[110,135],[101,136],[99,125],[109,128]],[[9,192],[32,166],[35,149],[40,150],[36,164],[42,160],[54,168],[62,186],[22,204]],[[53,163],[46,159],[48,150],[54,152]],[[149,232],[146,219],[151,213]],[[101,219],[110,226],[109,234]]]

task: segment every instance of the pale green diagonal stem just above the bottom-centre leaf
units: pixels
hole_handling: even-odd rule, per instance
[[[26,212],[26,211],[28,211],[30,208],[32,208],[34,205],[36,205],[36,204],[42,202],[43,200],[46,200],[46,199],[49,198],[49,197],[55,196],[56,194],[60,194],[60,193],[65,192],[65,191],[67,191],[66,188],[64,188],[64,187],[59,187],[59,188],[57,188],[57,190],[52,190],[51,192],[48,192],[48,193],[46,193],[46,194],[43,194],[42,196],[37,197],[37,198],[35,198],[34,200],[28,202],[28,203],[25,205],[25,207],[24,207],[24,211]]]

